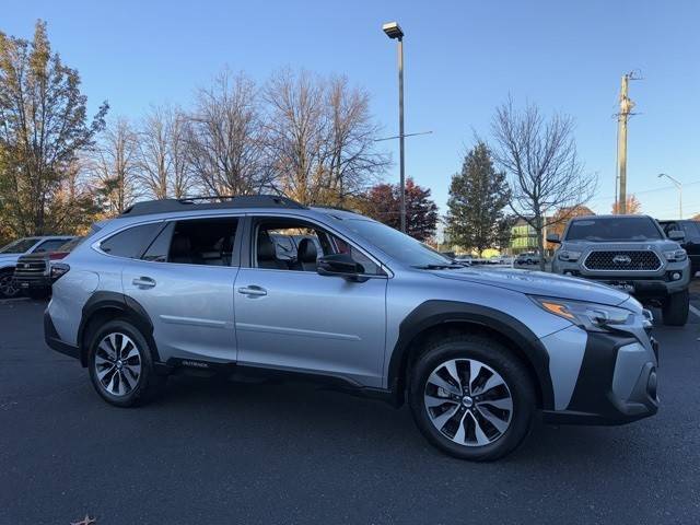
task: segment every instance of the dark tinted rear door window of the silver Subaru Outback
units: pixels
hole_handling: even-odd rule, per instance
[[[172,232],[167,261],[179,265],[231,266],[238,219],[177,221]],[[160,248],[153,247],[152,257]],[[237,258],[235,258],[237,260]],[[154,259],[152,259],[154,260]]]

